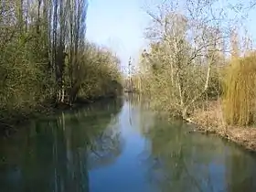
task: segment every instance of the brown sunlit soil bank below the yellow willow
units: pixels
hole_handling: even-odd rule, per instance
[[[196,131],[216,133],[248,150],[256,152],[256,126],[238,127],[226,125],[219,101],[210,101],[205,109],[194,112],[191,120],[198,125]]]

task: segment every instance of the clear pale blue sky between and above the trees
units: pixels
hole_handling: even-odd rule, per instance
[[[111,47],[123,66],[127,66],[130,56],[138,59],[140,50],[145,46],[143,33],[149,17],[142,8],[143,3],[144,0],[89,1],[87,38],[99,45]],[[255,40],[256,10],[251,11],[249,20],[244,25]]]

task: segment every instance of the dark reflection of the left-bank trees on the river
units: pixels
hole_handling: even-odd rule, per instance
[[[115,127],[122,105],[98,102],[63,112],[1,141],[1,191],[89,191],[89,170],[112,163],[122,151]]]

